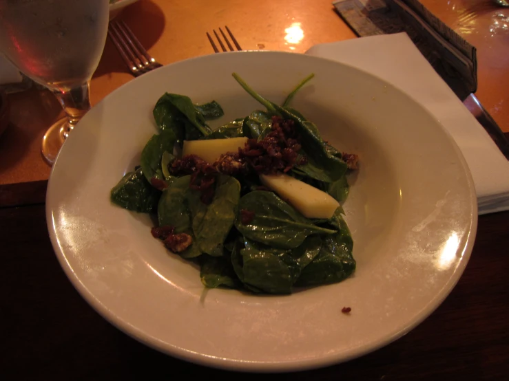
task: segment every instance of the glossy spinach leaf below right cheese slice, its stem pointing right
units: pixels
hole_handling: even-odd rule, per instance
[[[336,231],[320,226],[298,213],[294,208],[272,192],[255,190],[240,199],[239,210],[254,213],[249,224],[242,224],[237,217],[237,230],[253,241],[274,248],[296,248],[309,235],[327,235]]]

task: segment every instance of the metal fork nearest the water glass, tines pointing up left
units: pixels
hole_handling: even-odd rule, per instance
[[[124,21],[111,21],[108,36],[135,77],[163,66],[148,54]]]

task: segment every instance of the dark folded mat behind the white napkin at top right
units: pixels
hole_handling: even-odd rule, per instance
[[[337,0],[333,6],[357,36],[406,32],[461,100],[477,90],[476,49],[417,0]]]

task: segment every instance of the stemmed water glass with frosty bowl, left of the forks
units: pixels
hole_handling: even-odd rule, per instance
[[[109,3],[0,0],[0,50],[20,72],[48,87],[67,114],[44,135],[42,153],[50,164],[90,109],[90,78],[103,53]]]

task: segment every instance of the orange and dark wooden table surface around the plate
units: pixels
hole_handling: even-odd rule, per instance
[[[425,6],[477,47],[477,97],[509,135],[509,8],[490,0],[426,0]],[[119,16],[150,54],[168,64],[211,54],[205,32],[228,25],[245,50],[304,52],[353,39],[331,0],[141,0]],[[300,28],[302,40],[287,36]],[[285,37],[287,37],[285,39]],[[132,80],[108,40],[91,85],[96,104]],[[10,95],[0,137],[0,377],[4,380],[158,380],[238,375],[158,353],[101,318],[74,290],[45,225],[50,167],[39,152],[63,115],[48,91]],[[509,212],[479,217],[472,258],[446,301],[387,347],[333,367],[273,380],[509,380]],[[7,377],[3,377],[6,375]]]

